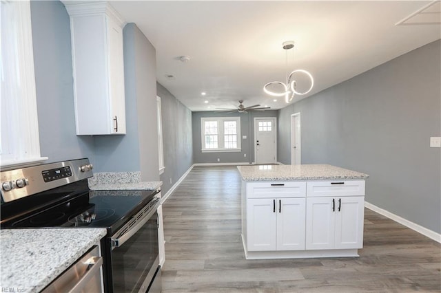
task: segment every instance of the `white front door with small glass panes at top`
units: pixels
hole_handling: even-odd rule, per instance
[[[254,118],[254,161],[276,162],[276,118]]]

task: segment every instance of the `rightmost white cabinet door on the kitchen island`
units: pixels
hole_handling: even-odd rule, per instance
[[[339,197],[336,201],[335,248],[362,248],[365,197]]]

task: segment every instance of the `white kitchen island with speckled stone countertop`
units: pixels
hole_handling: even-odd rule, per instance
[[[358,256],[369,175],[327,164],[238,171],[247,259]]]

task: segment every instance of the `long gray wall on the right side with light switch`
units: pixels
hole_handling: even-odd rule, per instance
[[[279,111],[278,155],[290,163],[289,116],[301,113],[302,164],[368,173],[366,201],[441,232],[441,41]]]

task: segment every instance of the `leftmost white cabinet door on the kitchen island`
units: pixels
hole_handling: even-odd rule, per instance
[[[247,199],[247,249],[276,250],[276,199]]]

